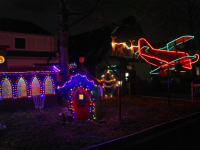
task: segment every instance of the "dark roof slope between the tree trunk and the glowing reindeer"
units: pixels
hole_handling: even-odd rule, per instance
[[[84,56],[84,64],[96,65],[101,62],[111,48],[111,29],[104,27],[69,38],[69,61],[79,63]]]

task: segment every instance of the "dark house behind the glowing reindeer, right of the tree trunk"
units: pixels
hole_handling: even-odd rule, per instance
[[[112,29],[109,26],[101,29],[96,29],[87,33],[76,35],[69,38],[69,60],[70,62],[78,62],[79,56],[85,57],[84,65],[88,71],[98,79],[108,70],[115,78],[118,78],[120,73],[120,61],[123,60],[122,78],[128,82],[127,74],[131,65],[134,65],[137,70],[137,77],[141,80],[151,81],[151,65],[147,64],[140,57],[131,58],[131,51],[125,48],[124,56],[116,56],[112,54],[112,37],[116,37],[116,43],[125,42],[131,47],[130,40],[137,41],[141,37],[145,37],[143,30],[136,23],[133,16],[121,21],[121,24]],[[126,84],[124,84],[124,89]]]

